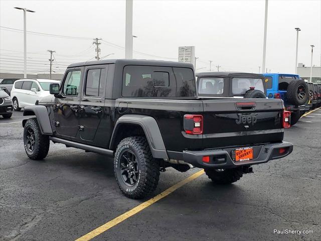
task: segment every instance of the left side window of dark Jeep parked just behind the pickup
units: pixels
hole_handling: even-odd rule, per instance
[[[199,78],[200,94],[216,94],[222,95],[224,91],[223,78]]]

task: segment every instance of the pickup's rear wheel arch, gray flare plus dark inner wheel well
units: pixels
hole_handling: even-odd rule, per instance
[[[109,149],[115,150],[122,139],[130,136],[144,136],[154,158],[168,159],[161,131],[153,117],[133,114],[121,116],[114,127]]]

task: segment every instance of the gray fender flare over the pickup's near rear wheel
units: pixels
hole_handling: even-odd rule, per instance
[[[154,158],[166,158],[168,155],[163,142],[163,137],[159,131],[156,120],[153,117],[139,114],[125,114],[118,118],[114,131],[111,136],[109,149],[114,145],[118,128],[121,123],[134,124],[142,128],[148,141],[151,154]]]

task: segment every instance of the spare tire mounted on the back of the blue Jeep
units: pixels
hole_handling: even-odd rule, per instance
[[[305,104],[309,98],[309,90],[304,80],[292,80],[287,86],[286,97],[294,105]]]

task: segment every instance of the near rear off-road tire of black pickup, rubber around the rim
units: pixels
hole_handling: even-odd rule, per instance
[[[123,179],[121,158],[124,153],[133,153],[138,166],[138,177],[133,185]],[[126,154],[125,154],[126,155]],[[159,162],[150,152],[146,138],[140,136],[123,139],[117,146],[114,157],[114,174],[121,192],[130,198],[138,199],[150,195],[159,180]]]

